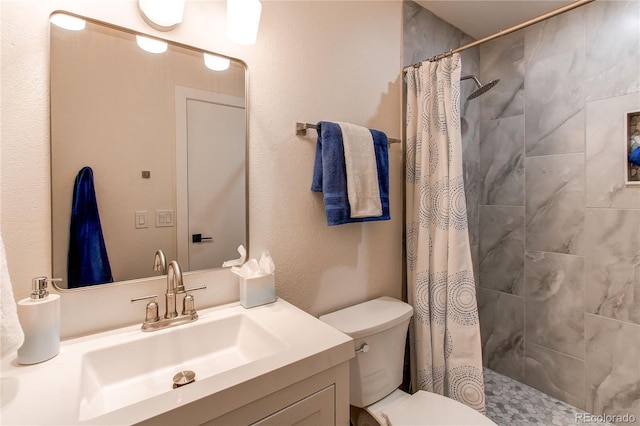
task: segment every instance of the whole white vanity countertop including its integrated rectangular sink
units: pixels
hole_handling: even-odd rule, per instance
[[[202,424],[354,356],[349,336],[282,299],[198,314],[148,333],[136,324],[66,340],[40,364],[5,356],[0,424]],[[183,370],[195,383],[173,389]]]

